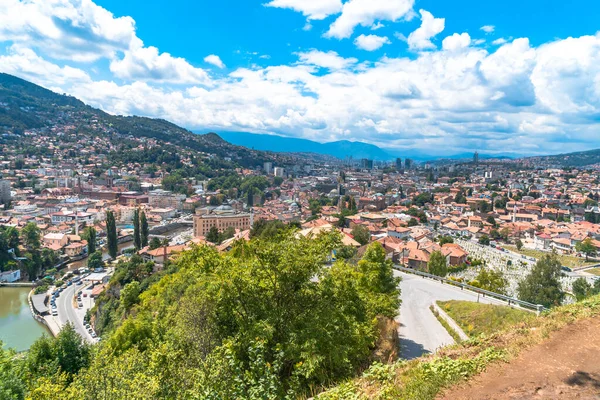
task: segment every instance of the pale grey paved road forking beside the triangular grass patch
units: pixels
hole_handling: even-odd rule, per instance
[[[431,279],[404,274],[402,277],[402,305],[400,306],[400,356],[410,360],[423,354],[434,353],[440,347],[454,343],[446,329],[438,322],[429,306],[434,301],[478,301],[478,295],[454,286],[444,285]],[[504,304],[494,299],[479,298],[487,304]]]

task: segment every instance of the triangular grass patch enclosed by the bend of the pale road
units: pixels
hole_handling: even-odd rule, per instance
[[[527,311],[471,301],[439,301],[438,305],[469,337],[491,335],[535,318],[534,314]]]

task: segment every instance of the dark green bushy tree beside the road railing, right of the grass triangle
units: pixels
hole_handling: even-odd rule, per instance
[[[562,265],[556,254],[543,256],[535,264],[531,273],[519,283],[519,298],[545,307],[558,306],[565,293],[560,284]]]

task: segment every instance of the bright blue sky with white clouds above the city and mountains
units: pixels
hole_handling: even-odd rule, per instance
[[[0,71],[194,131],[600,148],[597,0],[0,0]]]

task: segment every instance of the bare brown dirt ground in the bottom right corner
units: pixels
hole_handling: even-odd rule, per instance
[[[570,325],[440,398],[600,399],[600,318]]]

